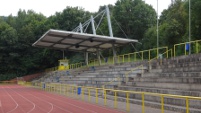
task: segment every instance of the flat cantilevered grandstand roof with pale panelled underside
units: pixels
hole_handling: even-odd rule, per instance
[[[137,40],[50,29],[33,46],[67,51],[95,52],[138,42]]]

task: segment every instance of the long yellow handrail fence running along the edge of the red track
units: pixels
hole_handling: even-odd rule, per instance
[[[42,83],[41,83],[42,84]],[[25,84],[22,84],[25,85]],[[38,86],[35,86],[38,87]],[[193,96],[182,96],[182,95],[172,95],[172,94],[160,94],[160,93],[151,93],[151,92],[140,92],[140,91],[125,91],[125,90],[115,90],[115,89],[105,89],[105,88],[95,88],[95,87],[86,87],[86,86],[75,86],[75,85],[68,85],[68,84],[56,84],[56,83],[49,83],[46,84],[46,87],[43,87],[40,85],[41,89],[49,92],[55,92],[58,94],[66,95],[66,96],[73,96],[78,99],[84,100],[84,95],[87,94],[88,96],[88,101],[91,101],[91,91],[95,92],[95,102],[98,103],[98,94],[101,94],[99,90],[103,90],[103,99],[104,99],[104,105],[107,105],[107,91],[113,92],[114,93],[114,108],[117,108],[118,104],[118,99],[117,99],[117,94],[118,93],[123,93],[126,96],[126,111],[130,112],[130,96],[131,94],[137,94],[141,95],[141,101],[142,101],[142,113],[145,113],[145,95],[149,96],[156,96],[160,98],[160,104],[161,104],[161,112],[164,113],[164,98],[175,98],[175,99],[184,99],[186,101],[186,113],[189,113],[189,107],[190,107],[190,102],[189,100],[199,100],[201,101],[201,97],[193,97]],[[81,98],[78,96],[78,92],[74,91],[77,90],[76,88],[80,87],[82,90],[81,92]],[[86,93],[84,93],[86,91]],[[76,94],[75,94],[76,93]]]

